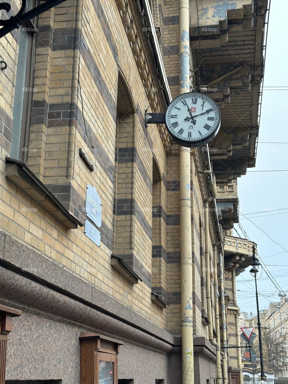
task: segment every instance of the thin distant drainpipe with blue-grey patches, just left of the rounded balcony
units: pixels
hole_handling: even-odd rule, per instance
[[[222,227],[220,225],[220,232],[222,232]],[[220,298],[221,298],[221,308],[222,308],[222,333],[223,333],[223,347],[224,355],[223,356],[223,382],[228,384],[228,371],[227,371],[227,327],[226,327],[226,311],[225,311],[225,298],[224,298],[224,268],[223,268],[223,245],[222,252],[219,254],[219,275],[220,275]]]

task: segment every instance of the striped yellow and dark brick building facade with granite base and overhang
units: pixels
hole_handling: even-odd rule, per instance
[[[205,268],[216,338],[213,266],[222,228],[238,220],[232,187],[255,165],[267,5],[200,3],[190,4],[191,86],[211,84],[222,125],[191,151],[194,370],[195,382],[214,384]],[[107,344],[99,356],[114,356],[114,382],[181,382],[179,146],[164,125],[145,124],[146,109],[163,113],[178,95],[178,8],[66,0],[0,40],[0,313],[22,311],[8,336],[8,383],[86,383],[84,344],[95,340]],[[100,225],[87,212],[88,186],[101,199]],[[220,315],[223,344],[222,329]]]

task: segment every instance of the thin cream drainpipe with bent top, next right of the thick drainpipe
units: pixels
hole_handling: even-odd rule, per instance
[[[204,231],[205,231],[205,280],[206,280],[206,300],[208,316],[209,341],[216,348],[216,376],[217,384],[222,383],[221,375],[221,349],[220,343],[217,343],[213,337],[212,324],[212,303],[211,303],[211,281],[210,281],[210,241],[209,241],[209,202],[214,200],[217,195],[215,175],[210,170],[205,170],[204,174],[212,174],[212,195],[204,201]],[[216,308],[216,302],[215,302]],[[216,309],[215,309],[216,314]],[[220,327],[219,327],[220,332]],[[220,336],[220,335],[219,335]]]

